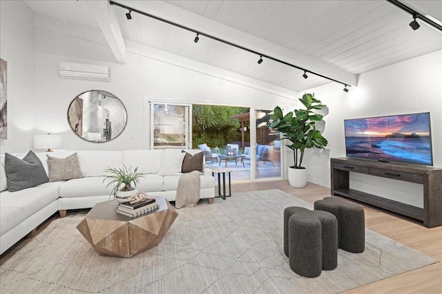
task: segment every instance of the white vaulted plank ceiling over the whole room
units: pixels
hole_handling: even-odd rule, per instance
[[[91,2],[98,1],[25,1],[36,15],[101,30],[114,50],[118,36],[114,45],[109,41],[113,25],[126,45],[146,45],[289,90],[329,83],[314,74],[305,79],[304,72],[268,59],[258,65],[260,57],[251,52],[204,36],[194,43],[193,32],[135,12],[128,20],[128,10],[106,1],[99,1],[101,9],[94,8]],[[422,22],[419,30],[412,30],[411,15],[387,1],[116,2],[349,85],[356,85],[357,74],[442,49],[441,32]],[[442,21],[442,1],[403,2]],[[104,7],[115,15],[115,23],[103,17]],[[119,47],[122,57],[117,60],[124,62],[124,44]]]

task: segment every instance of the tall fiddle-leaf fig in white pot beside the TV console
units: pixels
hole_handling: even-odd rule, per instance
[[[321,114],[314,112],[327,105],[323,105],[314,94],[304,94],[299,101],[306,109],[294,109],[285,116],[282,115],[282,109],[277,106],[273,110],[268,126],[282,133],[280,140],[290,140],[287,144],[294,151],[294,165],[289,167],[289,182],[292,187],[302,188],[307,185],[307,169],[302,167],[304,151],[308,148],[324,149],[327,146],[327,140],[316,129],[316,123],[323,120]]]

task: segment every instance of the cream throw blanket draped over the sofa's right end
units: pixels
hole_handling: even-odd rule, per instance
[[[194,207],[200,200],[200,171],[182,174],[178,180],[175,208]]]

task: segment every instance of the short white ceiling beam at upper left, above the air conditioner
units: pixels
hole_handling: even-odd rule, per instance
[[[104,38],[108,42],[117,62],[126,63],[126,45],[122,32],[119,30],[115,12],[109,7],[108,1],[86,1],[86,4],[95,21],[97,21],[100,30],[102,30]]]

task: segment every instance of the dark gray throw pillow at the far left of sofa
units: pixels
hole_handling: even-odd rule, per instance
[[[43,164],[29,151],[23,159],[5,154],[6,182],[8,191],[15,192],[48,182]]]

